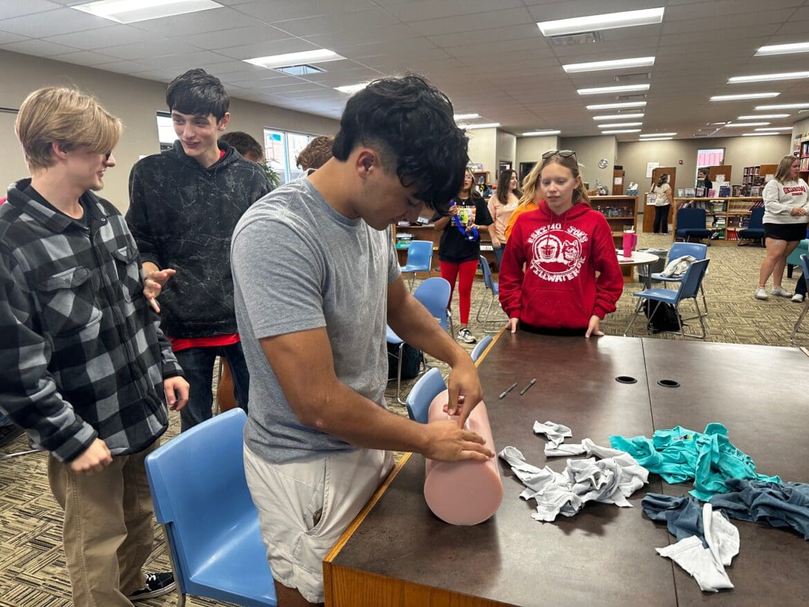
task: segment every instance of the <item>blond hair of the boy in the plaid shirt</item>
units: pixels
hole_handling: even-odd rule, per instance
[[[78,89],[45,87],[25,98],[15,132],[33,172],[53,165],[52,143],[66,151],[83,146],[95,153],[112,152],[121,138],[121,121]]]

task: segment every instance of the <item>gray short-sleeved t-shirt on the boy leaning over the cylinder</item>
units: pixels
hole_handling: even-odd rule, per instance
[[[299,422],[258,340],[325,327],[337,378],[385,407],[388,284],[400,276],[390,228],[344,217],[302,177],[242,215],[231,265],[250,369],[248,447],[276,463],[354,449]]]

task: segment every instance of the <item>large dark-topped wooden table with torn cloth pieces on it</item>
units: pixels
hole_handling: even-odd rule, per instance
[[[519,363],[518,363],[519,361]],[[545,465],[535,420],[564,423],[575,442],[647,435],[676,425],[701,431],[722,422],[760,472],[809,481],[809,359],[800,350],[671,342],[633,337],[543,337],[500,333],[481,359],[495,448],[519,448]],[[777,370],[777,371],[773,371]],[[632,376],[620,384],[616,376]],[[513,381],[532,377],[498,400]],[[663,388],[674,379],[680,388]],[[422,495],[424,459],[405,456],[324,562],[326,605],[806,605],[809,545],[795,533],[735,521],[741,551],[728,568],[735,590],[703,596],[655,547],[673,543],[642,515],[646,492],[680,495],[652,475],[635,507],[587,503],[554,523],[531,518],[534,505],[502,461],[505,497],[492,519],[453,527]],[[565,458],[551,458],[553,469]],[[459,504],[463,507],[463,504]]]

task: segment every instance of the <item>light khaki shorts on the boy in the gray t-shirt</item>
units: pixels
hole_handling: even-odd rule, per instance
[[[392,468],[391,452],[377,449],[273,464],[245,445],[244,473],[273,578],[323,602],[323,559]]]

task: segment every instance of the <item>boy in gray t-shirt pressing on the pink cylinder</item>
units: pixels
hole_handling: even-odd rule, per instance
[[[244,466],[281,605],[323,601],[323,558],[392,468],[388,450],[494,455],[463,429],[482,396],[472,359],[404,287],[390,232],[425,205],[446,213],[460,189],[467,139],[452,114],[417,76],[371,83],[345,106],[334,158],[236,226],[236,319],[251,375]],[[451,365],[459,422],[386,409],[386,323]]]

